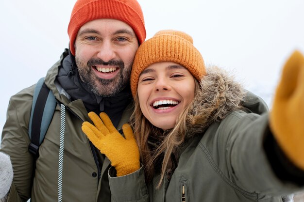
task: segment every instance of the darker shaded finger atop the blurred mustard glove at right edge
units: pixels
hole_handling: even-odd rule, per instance
[[[278,85],[276,96],[288,99],[299,85],[301,70],[304,68],[304,57],[299,51],[295,51],[284,65],[282,78]]]

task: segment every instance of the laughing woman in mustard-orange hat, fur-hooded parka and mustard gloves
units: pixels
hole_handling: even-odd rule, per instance
[[[125,138],[104,113],[89,113],[96,127],[83,125],[112,162],[113,201],[281,202],[301,190],[304,93],[294,89],[304,83],[290,85],[285,76],[304,78],[303,70],[295,52],[269,114],[225,72],[205,68],[188,34],[156,33],[137,50],[131,73],[131,124],[143,166],[127,124]]]

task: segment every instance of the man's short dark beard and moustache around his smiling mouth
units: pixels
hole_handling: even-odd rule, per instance
[[[125,67],[124,63],[119,60],[111,60],[103,62],[101,59],[90,59],[87,64],[81,59],[75,57],[76,65],[78,67],[79,76],[88,88],[96,95],[102,97],[111,97],[121,92],[130,81],[131,67]],[[118,75],[111,79],[99,78],[93,72],[92,66],[94,65],[108,65],[109,67],[119,67]]]

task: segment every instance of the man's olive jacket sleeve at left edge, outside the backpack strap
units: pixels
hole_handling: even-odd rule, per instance
[[[12,96],[2,130],[0,151],[11,158],[14,177],[7,202],[26,202],[31,196],[33,156],[28,151],[28,125],[32,106],[31,88]]]

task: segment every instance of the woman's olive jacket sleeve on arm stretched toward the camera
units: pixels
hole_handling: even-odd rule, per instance
[[[226,136],[227,165],[235,183],[245,190],[270,195],[288,195],[297,191],[295,183],[280,179],[271,167],[264,142],[269,114],[258,115],[233,112],[229,121],[223,120],[221,136]]]

